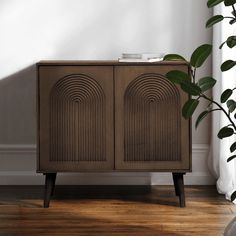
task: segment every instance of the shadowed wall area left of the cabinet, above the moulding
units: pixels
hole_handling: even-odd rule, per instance
[[[36,142],[36,65],[0,80],[0,144]]]

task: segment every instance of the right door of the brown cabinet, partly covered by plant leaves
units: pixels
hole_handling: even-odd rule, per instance
[[[173,69],[188,73],[183,64],[115,67],[116,169],[190,170],[188,96],[164,78]]]

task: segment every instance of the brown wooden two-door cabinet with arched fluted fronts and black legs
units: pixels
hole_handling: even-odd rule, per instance
[[[49,206],[57,172],[168,171],[184,206],[191,171],[188,96],[164,75],[182,62],[42,61],[38,72],[38,165]]]

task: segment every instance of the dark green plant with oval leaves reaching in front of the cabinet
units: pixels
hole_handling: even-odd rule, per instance
[[[206,27],[212,27],[214,24],[223,20],[229,20],[229,24],[233,25],[236,23],[236,10],[234,4],[236,0],[208,0],[207,6],[212,8],[220,3],[224,2],[226,7],[232,7],[232,14],[230,16],[215,15],[206,22]],[[229,47],[233,48],[236,46],[236,36],[229,36],[225,42],[223,42],[219,48]],[[216,80],[211,76],[200,78],[196,81],[196,71],[203,65],[206,59],[212,52],[212,45],[204,44],[199,46],[190,58],[189,66],[190,73],[187,74],[182,71],[173,70],[166,74],[166,78],[171,82],[178,84],[181,89],[188,93],[191,98],[184,104],[182,108],[182,115],[185,119],[190,118],[196,110],[200,100],[204,99],[209,102],[207,108],[200,113],[198,116],[195,127],[197,128],[199,123],[210,113],[215,111],[223,112],[228,120],[228,125],[222,127],[218,132],[219,139],[225,139],[230,136],[236,135],[236,101],[232,99],[232,95],[236,88],[228,88],[221,94],[220,102],[217,102],[208,95],[208,90],[211,90]],[[187,60],[178,54],[168,54],[164,57],[164,60]],[[236,65],[234,60],[226,60],[221,65],[221,71],[227,71]],[[226,157],[227,162],[230,162],[236,158],[236,142],[233,142],[230,146],[231,156]],[[231,195],[231,201],[236,199],[236,191]]]

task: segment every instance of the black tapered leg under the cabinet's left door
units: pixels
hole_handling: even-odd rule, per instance
[[[46,173],[45,176],[44,208],[48,208],[55,187],[56,173]]]

